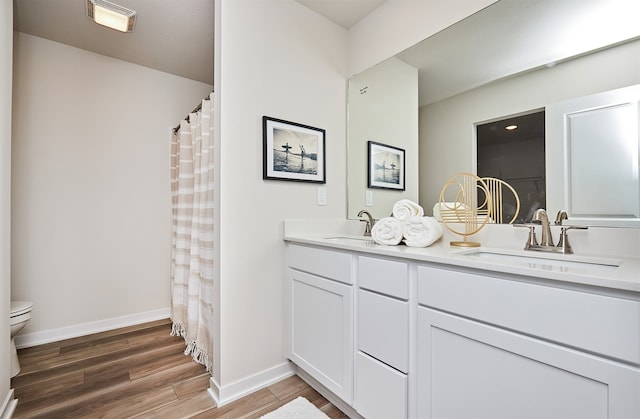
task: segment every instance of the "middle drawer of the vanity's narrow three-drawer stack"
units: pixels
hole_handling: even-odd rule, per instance
[[[409,303],[358,291],[358,349],[404,373],[409,371]]]

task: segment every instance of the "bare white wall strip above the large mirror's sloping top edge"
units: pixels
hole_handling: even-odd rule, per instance
[[[495,2],[387,1],[349,30],[349,74],[393,57]]]

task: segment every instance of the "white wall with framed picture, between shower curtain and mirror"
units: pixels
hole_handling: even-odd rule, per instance
[[[293,0],[221,0],[219,339],[222,387],[285,362],[282,220],[346,214],[347,32]],[[220,80],[220,82],[218,82]],[[317,184],[262,179],[263,115],[326,130]]]

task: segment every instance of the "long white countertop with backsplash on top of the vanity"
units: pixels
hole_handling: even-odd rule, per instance
[[[459,240],[459,237],[453,236],[446,230],[443,238],[425,248],[380,245],[371,240],[362,240],[363,236],[360,232],[362,225],[357,221],[354,223],[349,220],[335,223],[332,223],[331,220],[314,220],[312,224],[307,224],[302,220],[287,220],[284,227],[284,240],[291,243],[403,258],[418,262],[440,263],[640,293],[640,257],[637,255],[637,252],[640,251],[637,243],[640,234],[637,230],[599,231],[592,229],[590,234],[595,237],[591,237],[591,240],[587,240],[584,234],[572,235],[571,244],[574,247],[574,254],[549,255],[541,254],[544,252],[522,250],[526,241],[526,230],[524,229],[513,229],[512,226],[491,227],[492,229],[487,230],[492,231],[481,235],[481,247],[473,249],[488,253],[511,254],[518,257],[485,259],[481,255],[461,254],[470,251],[470,249],[451,246],[449,241]],[[519,231],[514,232],[514,230]],[[471,240],[476,241],[475,237],[471,237]],[[581,240],[582,242],[600,243],[603,249],[607,249],[609,252],[598,250],[594,244],[591,244],[590,247],[588,244],[583,244],[580,249],[578,243]],[[529,254],[531,254],[531,258],[527,258]],[[547,256],[553,258],[553,262],[545,261],[544,258]],[[558,260],[561,262],[556,262]],[[562,261],[568,263],[563,264]],[[582,263],[584,261],[592,263]],[[594,261],[612,262],[619,266],[600,265],[593,263]]]

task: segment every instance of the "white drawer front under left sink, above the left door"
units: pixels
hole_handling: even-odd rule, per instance
[[[353,284],[349,253],[290,244],[287,266],[344,284]]]

